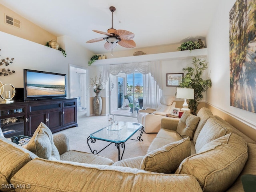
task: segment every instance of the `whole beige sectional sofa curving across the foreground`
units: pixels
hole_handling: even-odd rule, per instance
[[[162,118],[145,156],[114,164],[87,153],[76,158],[81,152],[69,150],[64,134],[49,141],[47,149],[54,144],[59,152],[50,151],[55,157],[34,143],[35,154],[0,137],[0,190],[242,192],[240,176],[256,174],[256,142],[208,108],[180,120]]]

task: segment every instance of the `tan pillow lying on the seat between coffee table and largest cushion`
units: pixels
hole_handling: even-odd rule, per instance
[[[190,138],[187,137],[146,154],[140,169],[157,173],[173,173],[182,160],[190,154],[191,143]]]

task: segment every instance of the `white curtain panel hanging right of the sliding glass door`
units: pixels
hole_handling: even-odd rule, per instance
[[[143,106],[157,108],[160,104],[162,90],[151,76],[151,74],[143,75]]]

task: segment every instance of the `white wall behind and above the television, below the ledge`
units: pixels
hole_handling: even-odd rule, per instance
[[[16,88],[23,87],[24,68],[67,74],[68,83],[69,64],[87,67],[88,60],[93,55],[68,36],[58,38],[60,47],[66,50],[66,57],[58,50],[4,32],[0,32],[0,42],[0,59],[14,58],[13,64],[0,66],[0,68],[10,68],[15,71],[12,75],[0,76],[0,81],[3,84],[10,83]],[[69,84],[67,90],[68,96]]]

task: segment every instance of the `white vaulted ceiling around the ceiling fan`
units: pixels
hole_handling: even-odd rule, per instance
[[[136,48],[205,37],[220,0],[0,0],[0,4],[56,35],[67,35],[88,50],[107,52],[105,41],[87,43],[113,27],[133,32]],[[117,46],[116,51],[126,50]]]

